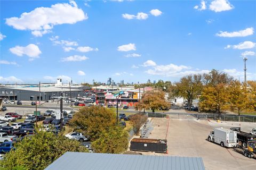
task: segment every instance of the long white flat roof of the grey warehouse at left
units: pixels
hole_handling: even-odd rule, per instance
[[[15,88],[7,88],[6,89],[13,89],[13,90],[28,90],[28,91],[38,91],[39,92],[39,87],[15,87]],[[41,92],[61,92],[61,91],[69,91],[69,88],[60,88],[60,87],[41,87],[40,88]],[[79,89],[72,89],[71,91],[83,91]]]

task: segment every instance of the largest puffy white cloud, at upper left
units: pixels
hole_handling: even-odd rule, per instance
[[[51,32],[54,25],[75,24],[88,19],[87,14],[77,7],[75,1],[58,3],[51,7],[37,7],[31,12],[24,12],[18,17],[6,19],[6,24],[17,30],[31,30],[36,37]]]

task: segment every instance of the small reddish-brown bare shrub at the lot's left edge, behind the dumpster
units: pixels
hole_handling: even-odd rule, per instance
[[[132,122],[133,125],[133,131],[136,135],[139,135],[140,132],[140,127],[146,123],[148,117],[146,115],[142,115],[142,114],[135,114],[132,115],[130,120]]]

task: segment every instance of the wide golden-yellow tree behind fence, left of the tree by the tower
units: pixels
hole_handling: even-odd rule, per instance
[[[206,86],[200,97],[199,106],[204,111],[214,111],[220,113],[228,108],[228,89],[223,83],[217,84],[215,87]]]

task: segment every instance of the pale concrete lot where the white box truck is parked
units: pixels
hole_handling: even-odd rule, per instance
[[[171,118],[153,118],[151,122],[154,130],[149,138],[166,138],[170,156],[202,157],[205,169],[255,169],[255,159],[249,159],[233,149],[222,148],[206,140],[214,128],[237,127],[239,123]],[[241,123],[240,127],[243,131],[249,132],[256,127],[256,123]],[[143,152],[143,154],[166,155],[153,152]]]

